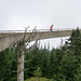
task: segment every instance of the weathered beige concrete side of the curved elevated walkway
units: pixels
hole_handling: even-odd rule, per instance
[[[50,39],[50,38],[58,38],[58,37],[67,37],[71,35],[72,30],[62,30],[62,31],[42,31],[35,33],[35,38],[30,41],[41,39]],[[42,36],[41,36],[42,35]],[[26,33],[26,39],[30,36],[30,32]],[[9,33],[0,36],[0,52],[4,49],[14,45],[16,42],[22,40],[24,33]]]

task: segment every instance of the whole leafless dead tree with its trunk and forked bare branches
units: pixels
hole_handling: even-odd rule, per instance
[[[32,30],[32,32],[30,33],[30,36],[27,39],[26,39],[26,32],[27,32],[27,28],[25,29],[24,38],[17,43],[17,46],[18,46],[18,55],[17,55],[17,81],[24,81],[24,63],[28,62],[28,60],[24,62],[25,49],[28,45],[28,43],[36,37],[37,30],[35,28]],[[36,43],[38,42],[38,40],[36,41]],[[31,46],[31,48],[33,48],[33,46]],[[35,56],[32,56],[32,58]],[[29,59],[29,60],[31,60],[31,59]]]

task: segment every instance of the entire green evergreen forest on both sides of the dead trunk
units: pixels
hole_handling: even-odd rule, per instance
[[[33,57],[35,56],[35,57]],[[33,57],[33,58],[32,58]],[[81,80],[81,32],[72,30],[60,49],[40,49],[25,53],[25,81],[80,81]],[[16,81],[17,48],[0,53],[0,81]]]

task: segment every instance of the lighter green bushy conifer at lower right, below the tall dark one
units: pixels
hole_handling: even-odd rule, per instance
[[[66,81],[73,81],[75,72],[77,72],[78,60],[75,56],[69,55],[70,53],[63,56],[59,66],[59,73],[62,75],[62,79]]]

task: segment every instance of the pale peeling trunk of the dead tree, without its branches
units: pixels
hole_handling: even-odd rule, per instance
[[[24,81],[24,51],[23,44],[19,43],[18,51],[18,65],[17,65],[17,81]]]

